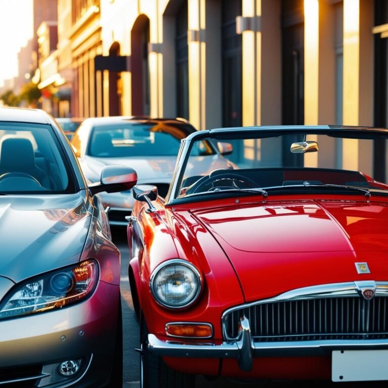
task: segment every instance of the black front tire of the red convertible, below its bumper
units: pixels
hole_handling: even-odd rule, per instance
[[[194,388],[195,375],[169,368],[162,357],[147,348],[148,329],[140,319],[140,388]]]

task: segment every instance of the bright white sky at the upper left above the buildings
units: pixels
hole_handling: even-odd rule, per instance
[[[32,0],[0,0],[0,87],[18,75],[18,52],[32,38]]]

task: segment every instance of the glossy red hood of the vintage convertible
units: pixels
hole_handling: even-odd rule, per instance
[[[385,203],[269,202],[192,213],[218,240],[247,301],[314,284],[388,280]],[[358,262],[370,273],[359,274]]]

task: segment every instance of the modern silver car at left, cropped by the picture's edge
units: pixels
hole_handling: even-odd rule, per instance
[[[122,388],[120,252],[95,194],[44,111],[0,108],[0,384]]]

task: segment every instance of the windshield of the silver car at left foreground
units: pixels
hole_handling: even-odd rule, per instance
[[[0,193],[70,193],[75,184],[53,128],[0,122]]]

